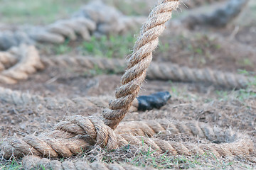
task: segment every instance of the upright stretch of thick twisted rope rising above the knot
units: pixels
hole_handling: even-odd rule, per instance
[[[164,31],[164,23],[171,18],[171,12],[178,8],[179,1],[159,1],[149,14],[148,21],[135,42],[132,55],[129,57],[127,71],[116,90],[116,100],[110,102],[110,109],[102,113],[103,122],[115,129],[129,110],[132,101],[139,93],[140,86],[146,77],[146,69],[152,60],[152,52],[157,47],[159,35]]]

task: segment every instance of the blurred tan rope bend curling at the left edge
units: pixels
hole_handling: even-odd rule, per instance
[[[4,84],[16,84],[18,80],[28,79],[28,75],[36,72],[36,69],[43,69],[38,51],[33,46],[20,45],[16,51],[18,57],[14,57],[11,52],[3,52],[1,64],[13,64],[18,58],[19,61],[14,66],[0,72],[0,82]],[[1,54],[0,54],[1,55]]]

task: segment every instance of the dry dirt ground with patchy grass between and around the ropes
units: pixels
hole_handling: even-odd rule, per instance
[[[46,24],[58,18],[66,18],[78,10],[83,1],[28,1],[19,2],[21,7],[14,6],[16,1],[0,1],[1,23],[18,25],[21,23]],[[49,4],[46,8],[42,4]],[[127,15],[146,14],[149,5],[144,1],[138,3],[144,7],[124,8],[120,1],[108,1],[117,6]],[[127,2],[128,3],[128,2]],[[28,4],[28,6],[26,6]],[[129,4],[129,3],[128,3]],[[209,4],[206,5],[205,10]],[[40,7],[40,8],[39,8]],[[201,10],[204,7],[201,7]],[[166,27],[160,38],[160,45],[154,52],[154,62],[174,62],[188,67],[218,69],[225,72],[250,74],[256,72],[256,3],[250,0],[240,16],[226,28],[207,28],[201,30],[173,29]],[[40,9],[40,10],[38,10]],[[183,8],[184,14],[176,13],[175,19],[193,13],[195,9]],[[180,13],[180,12],[178,12]],[[38,19],[38,17],[40,19]],[[233,30],[239,27],[238,33],[230,37]],[[124,36],[112,35],[91,42],[67,40],[63,45],[38,45],[41,56],[55,55],[97,55],[98,57],[124,58],[129,55],[134,43],[134,34]],[[122,43],[120,43],[122,42]],[[95,48],[90,47],[97,47]],[[120,50],[122,49],[122,50]],[[242,73],[241,73],[242,72]],[[54,77],[57,77],[55,81]],[[121,75],[107,74],[104,70],[90,72],[75,72],[72,69],[48,67],[37,72],[26,81],[18,84],[1,86],[54,98],[76,98],[80,96],[114,96],[114,89],[119,86]],[[248,89],[225,89],[219,86],[200,83],[183,83],[174,81],[146,80],[140,95],[157,91],[169,91],[171,100],[160,110],[128,113],[124,121],[129,120],[198,120],[208,125],[223,129],[233,128],[235,131],[249,135],[256,143],[256,91]],[[16,106],[10,103],[0,103],[0,137],[12,135],[47,132],[65,115],[100,115],[102,107],[63,106],[58,109],[41,107],[39,104]],[[164,140],[198,142],[198,139],[185,135],[156,135]],[[203,140],[203,139],[202,139]],[[207,141],[206,142],[210,142]],[[256,145],[255,145],[256,147]],[[158,169],[255,169],[255,150],[248,157],[215,158],[206,153],[203,156],[191,157],[173,156],[147,152],[142,148],[119,148],[113,152],[95,147],[91,152],[85,152],[68,160],[84,160],[94,162],[118,162],[135,166],[153,166]],[[0,169],[21,169],[21,159],[0,161]]]

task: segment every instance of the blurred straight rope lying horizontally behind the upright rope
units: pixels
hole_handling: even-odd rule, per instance
[[[126,63],[124,60],[106,59],[95,57],[44,57],[42,62],[50,67],[72,67],[74,69],[97,69],[122,72]],[[250,82],[255,81],[253,77],[245,77],[242,74],[220,72],[213,69],[194,69],[181,67],[173,63],[152,62],[147,70],[148,79],[160,79],[171,81],[205,82],[232,89],[246,88]]]

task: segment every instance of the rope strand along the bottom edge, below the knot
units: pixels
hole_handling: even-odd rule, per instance
[[[41,169],[42,166],[45,169],[51,169],[51,170],[82,170],[82,169],[90,169],[90,170],[113,170],[113,169],[119,169],[119,170],[140,170],[140,169],[151,169],[152,167],[144,167],[139,168],[137,166],[132,166],[129,164],[105,164],[102,162],[93,162],[92,164],[89,164],[88,162],[60,162],[57,160],[51,161],[50,159],[43,158],[36,156],[27,156],[22,159],[23,168],[26,170],[29,169]]]

